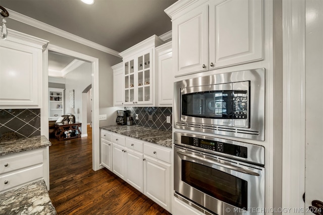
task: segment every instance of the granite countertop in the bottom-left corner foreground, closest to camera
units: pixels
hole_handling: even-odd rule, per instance
[[[44,180],[1,193],[0,214],[57,214]]]

